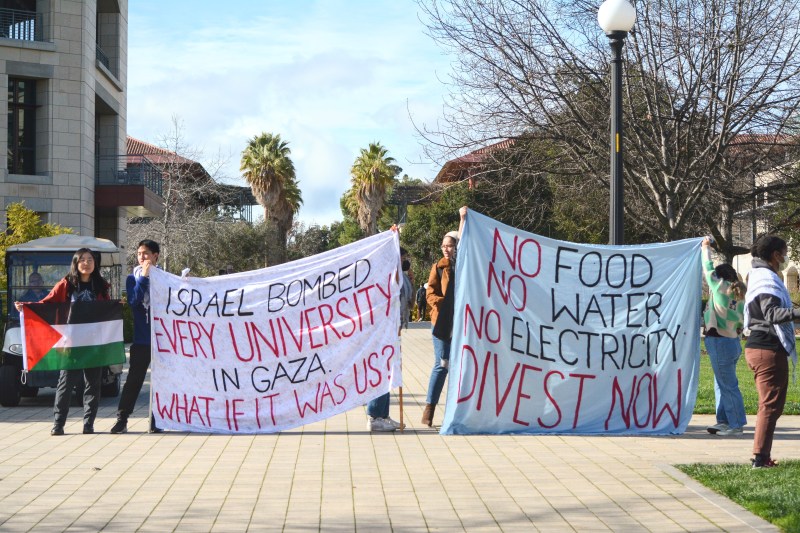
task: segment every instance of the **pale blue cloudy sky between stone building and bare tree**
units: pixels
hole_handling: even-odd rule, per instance
[[[432,180],[415,124],[442,112],[450,59],[413,0],[135,0],[128,4],[128,135],[239,172],[247,141],[288,141],[306,224],[341,220],[361,148],[380,142],[402,174]],[[221,157],[220,157],[221,156]]]

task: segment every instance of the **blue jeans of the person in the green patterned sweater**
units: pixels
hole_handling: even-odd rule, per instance
[[[736,363],[742,354],[742,345],[738,338],[706,337],[706,350],[714,370],[717,423],[740,428],[747,423],[739,379],[736,377]]]

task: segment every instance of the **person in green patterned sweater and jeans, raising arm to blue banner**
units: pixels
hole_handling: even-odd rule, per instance
[[[710,245],[711,239],[703,239],[703,277],[708,284],[705,344],[714,371],[717,423],[706,429],[720,436],[739,435],[747,423],[744,399],[736,377],[736,364],[742,354],[739,339],[747,289],[731,265],[723,263],[714,268]]]

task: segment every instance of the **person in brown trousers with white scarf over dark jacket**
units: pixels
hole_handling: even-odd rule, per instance
[[[745,359],[753,371],[758,391],[758,415],[753,436],[753,468],[769,468],[775,425],[783,414],[789,388],[789,359],[797,364],[794,323],[800,311],[794,309],[783,280],[786,241],[762,235],[750,249],[753,270],[745,296],[744,326],[750,329]]]

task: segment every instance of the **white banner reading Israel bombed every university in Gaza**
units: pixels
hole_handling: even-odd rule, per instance
[[[160,428],[271,433],[399,386],[398,235],[212,278],[150,270]]]

